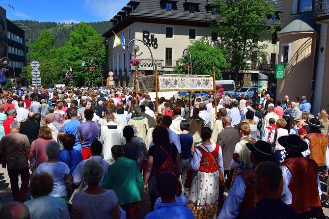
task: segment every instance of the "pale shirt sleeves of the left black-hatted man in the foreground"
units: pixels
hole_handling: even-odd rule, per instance
[[[240,205],[246,195],[246,184],[242,175],[238,175],[235,182],[225,199],[224,205],[221,208],[218,219],[235,219],[239,214]],[[288,189],[287,184],[283,181],[283,191],[281,193],[281,201],[287,205],[292,202],[292,194]]]

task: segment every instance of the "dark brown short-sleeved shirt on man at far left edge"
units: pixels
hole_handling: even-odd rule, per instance
[[[1,138],[0,150],[6,152],[8,169],[22,169],[27,166],[26,148],[31,147],[26,135],[11,132]]]

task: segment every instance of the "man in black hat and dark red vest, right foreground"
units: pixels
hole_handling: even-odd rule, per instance
[[[292,193],[290,206],[299,214],[309,214],[312,206],[321,209],[322,192],[318,164],[302,155],[302,152],[308,148],[307,143],[297,135],[279,137],[278,142],[288,154],[280,168],[283,173],[283,181]],[[315,215],[309,216],[317,218]]]

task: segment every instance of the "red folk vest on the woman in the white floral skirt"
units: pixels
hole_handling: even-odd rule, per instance
[[[214,161],[211,158],[211,156],[208,153],[208,151],[204,150],[200,146],[198,146],[197,149],[199,149],[199,151],[202,154],[202,158],[201,158],[201,161],[200,161],[199,171],[200,172],[206,172],[206,173],[216,172],[217,171],[216,165],[214,164]],[[216,144],[215,150],[212,151],[212,152],[210,152],[213,155],[213,157],[214,157],[215,160],[218,159],[218,152],[219,152],[219,145]]]

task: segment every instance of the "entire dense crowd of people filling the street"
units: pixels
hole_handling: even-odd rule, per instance
[[[0,215],[140,219],[149,194],[147,219],[321,218],[329,120],[310,111],[305,96],[266,92],[153,101],[129,87],[1,90],[15,202]]]

